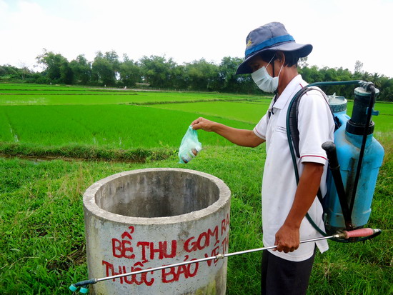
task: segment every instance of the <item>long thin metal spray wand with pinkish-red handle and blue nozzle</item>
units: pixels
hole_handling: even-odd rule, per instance
[[[325,239],[350,239],[350,238],[359,238],[361,236],[372,236],[374,234],[380,234],[382,231],[380,229],[355,229],[354,231],[337,231],[336,234],[333,234],[332,236],[322,236],[320,238],[314,238],[314,239],[307,239],[304,241],[300,241],[300,244],[304,243],[309,243],[310,241],[321,241]],[[235,256],[235,255],[240,255],[240,254],[247,254],[247,253],[252,253],[252,252],[257,252],[257,251],[264,251],[264,250],[269,250],[269,249],[275,249],[277,246],[268,246],[264,248],[256,248],[256,249],[249,249],[249,250],[244,250],[244,251],[238,251],[238,252],[232,252],[232,253],[227,253],[227,254],[218,254],[216,256],[210,256],[210,257],[205,257],[202,259],[195,259],[191,261],[184,261],[180,262],[178,264],[169,264],[169,265],[164,265],[164,266],[159,266],[159,267],[154,267],[152,269],[142,269],[141,271],[131,271],[127,274],[118,274],[116,276],[105,276],[103,278],[99,279],[89,279],[86,281],[79,281],[75,284],[71,284],[69,286],[69,289],[71,291],[77,291],[79,289],[79,292],[85,294],[89,289],[87,289],[87,286],[91,284],[96,284],[99,281],[107,281],[110,279],[118,279],[124,276],[132,276],[136,274],[143,274],[145,272],[153,272],[153,271],[159,271],[161,269],[169,269],[171,267],[176,267],[176,266],[182,266],[186,264],[195,264],[198,262],[202,261],[209,261],[209,260],[216,260],[216,259],[224,259],[225,257],[229,256]]]

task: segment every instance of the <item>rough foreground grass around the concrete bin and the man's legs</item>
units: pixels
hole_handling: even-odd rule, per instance
[[[186,167],[223,179],[232,190],[229,251],[262,246],[260,183],[264,148],[208,146],[187,166],[177,164],[175,155],[144,164],[22,159],[0,162],[4,184],[0,286],[4,294],[66,294],[69,284],[86,278],[81,195],[94,181],[120,171]],[[382,229],[392,228],[391,163],[385,161],[382,166],[369,224]],[[327,253],[317,255],[309,294],[389,294],[393,282],[389,271],[391,232],[365,243],[330,242],[329,246]],[[227,293],[258,294],[259,263],[260,254],[231,257]]]

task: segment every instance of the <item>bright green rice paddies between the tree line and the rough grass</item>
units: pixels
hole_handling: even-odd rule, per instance
[[[37,89],[31,87],[34,89],[31,91],[24,85],[0,84],[0,141],[44,146],[84,144],[119,149],[175,148],[195,114],[237,128],[252,129],[270,103],[269,99],[261,100],[257,96],[232,94],[94,92],[94,89],[78,87],[35,87]],[[35,91],[41,94],[31,94]],[[84,91],[91,94],[86,95]],[[352,102],[349,102],[348,109],[350,113]],[[380,111],[380,115],[373,118],[377,134],[391,132],[392,104],[377,104],[376,109]],[[228,144],[213,134],[201,136],[206,144]]]

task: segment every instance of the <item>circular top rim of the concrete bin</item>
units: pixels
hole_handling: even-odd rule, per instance
[[[133,217],[133,216],[124,216],[119,214],[114,214],[104,209],[101,209],[95,202],[95,195],[96,192],[103,186],[104,184],[117,179],[122,176],[132,175],[132,174],[140,174],[144,172],[151,172],[151,171],[179,171],[187,174],[197,174],[204,178],[209,179],[214,184],[217,185],[219,189],[219,199],[215,201],[212,205],[207,206],[206,208],[198,211],[189,212],[186,214],[176,215],[176,216],[166,216],[166,217]],[[197,219],[202,219],[210,214],[218,211],[222,207],[229,204],[231,198],[231,191],[227,184],[224,183],[221,179],[217,178],[216,176],[212,176],[211,174],[207,174],[204,172],[191,170],[191,169],[179,169],[179,168],[149,168],[149,169],[136,169],[131,171],[124,171],[118,174],[114,174],[108,176],[104,179],[96,181],[94,184],[89,186],[88,189],[84,192],[83,196],[83,203],[86,211],[90,214],[93,214],[98,219],[102,220],[110,220],[117,222],[119,224],[149,224],[149,225],[156,225],[156,224],[177,224],[179,222],[184,221],[195,221]],[[86,213],[85,213],[86,214]]]

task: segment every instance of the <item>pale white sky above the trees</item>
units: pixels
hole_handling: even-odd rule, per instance
[[[36,67],[44,49],[69,61],[116,51],[183,64],[244,58],[249,31],[282,22],[312,44],[309,66],[393,77],[393,0],[0,0],[0,65]]]

